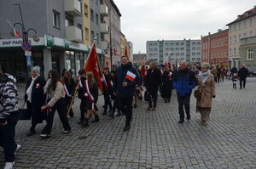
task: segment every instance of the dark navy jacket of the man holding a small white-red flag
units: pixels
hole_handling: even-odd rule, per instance
[[[127,71],[131,71],[136,75],[136,78],[133,82],[125,79]],[[123,82],[127,82],[128,86],[123,87]],[[138,84],[138,75],[137,70],[132,67],[131,62],[127,65],[121,65],[117,70],[115,70],[115,77],[113,81],[113,91],[117,94],[118,97],[121,98],[131,98],[133,97],[134,90],[136,85]]]

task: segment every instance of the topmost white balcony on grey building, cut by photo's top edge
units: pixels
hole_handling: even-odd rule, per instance
[[[65,0],[65,12],[72,16],[82,16],[81,3],[79,0]]]

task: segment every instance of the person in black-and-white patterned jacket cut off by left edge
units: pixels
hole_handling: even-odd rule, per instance
[[[0,67],[0,146],[5,155],[4,169],[12,169],[15,152],[20,145],[15,142],[15,127],[18,115],[18,90],[14,76],[4,74]]]

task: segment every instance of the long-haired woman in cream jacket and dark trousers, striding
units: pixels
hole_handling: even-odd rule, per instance
[[[71,131],[71,127],[69,126],[67,120],[67,106],[65,104],[65,93],[64,86],[61,83],[61,77],[57,70],[49,71],[49,79],[44,87],[44,93],[47,94],[47,104],[45,104],[41,109],[48,110],[47,115],[47,124],[44,127],[41,138],[49,138],[50,132],[52,129],[55,110],[57,110],[58,115],[61,119],[61,123],[63,125],[64,131],[63,133],[68,133]]]

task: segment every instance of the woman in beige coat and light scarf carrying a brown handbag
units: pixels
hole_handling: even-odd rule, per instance
[[[201,98],[196,100],[196,111],[201,114],[201,124],[207,125],[210,119],[212,108],[212,98],[215,98],[214,76],[210,73],[210,65],[203,63],[201,72],[197,76],[198,90],[201,93]]]

